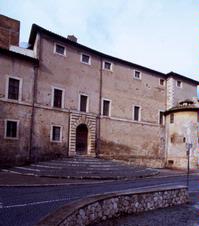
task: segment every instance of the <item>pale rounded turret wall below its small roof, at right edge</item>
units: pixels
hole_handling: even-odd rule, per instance
[[[176,112],[174,123],[170,123],[170,115],[166,117],[166,152],[167,166],[186,168],[186,143],[192,143],[190,167],[197,168],[199,160],[197,112]],[[185,138],[185,140],[183,140]],[[173,161],[173,164],[171,163]],[[170,162],[170,163],[169,163]]]

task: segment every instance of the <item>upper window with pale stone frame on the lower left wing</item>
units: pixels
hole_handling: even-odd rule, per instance
[[[22,79],[8,77],[7,98],[11,100],[21,100]]]

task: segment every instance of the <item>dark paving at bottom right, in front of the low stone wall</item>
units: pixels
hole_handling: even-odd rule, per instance
[[[190,204],[123,216],[92,226],[199,226],[199,193],[191,195]]]

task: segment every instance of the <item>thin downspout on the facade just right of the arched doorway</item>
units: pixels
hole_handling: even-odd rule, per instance
[[[101,106],[102,106],[102,66],[103,66],[103,60],[102,57],[100,57],[100,87],[99,87],[99,113],[97,116],[97,150],[96,150],[96,157],[99,157],[100,149],[101,149]]]

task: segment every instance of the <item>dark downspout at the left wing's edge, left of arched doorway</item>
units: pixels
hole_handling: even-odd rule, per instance
[[[39,37],[39,46],[37,47],[39,53],[37,54],[38,59],[41,59],[41,35]],[[29,162],[34,161],[33,160],[33,134],[34,134],[34,121],[35,121],[35,103],[37,103],[37,81],[38,81],[38,70],[39,69],[39,63],[34,64],[34,79],[33,79],[33,100],[32,100],[32,112],[31,112],[31,122],[30,122],[30,145],[29,145]]]

